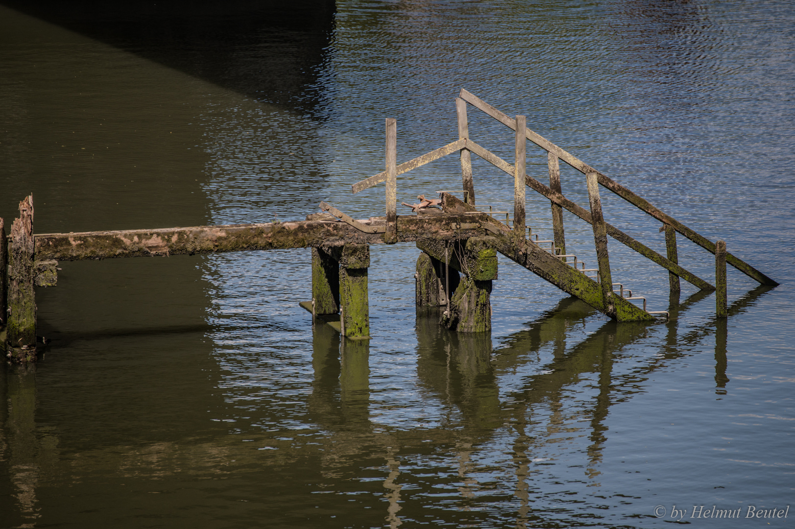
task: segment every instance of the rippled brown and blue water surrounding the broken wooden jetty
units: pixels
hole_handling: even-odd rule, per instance
[[[0,527],[795,517],[745,518],[795,490],[790,2],[0,4],[6,224],[30,192],[37,233],[294,220],[320,200],[382,215],[381,186],[349,186],[383,169],[384,118],[406,161],[457,138],[467,88],[781,282],[730,267],[718,321],[713,294],[670,298],[667,271],[611,239],[615,281],[671,312],[616,324],[500,257],[493,329],[466,335],[415,309],[413,243],[374,245],[366,344],[298,306],[308,250],[60,263],[37,290],[52,342],[0,368]],[[513,159],[509,129],[469,119]],[[473,165],[478,204],[510,208],[510,177]],[[546,174],[530,144],[528,173]],[[405,201],[460,189],[457,157],[397,183]],[[607,221],[664,252],[608,193]],[[551,235],[549,200],[527,197]],[[591,227],[564,224],[595,263]],[[712,282],[711,254],[680,238],[679,256]]]

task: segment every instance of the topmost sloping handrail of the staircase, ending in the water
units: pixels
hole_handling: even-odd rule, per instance
[[[460,98],[478,107],[481,111],[485,112],[487,115],[490,115],[492,118],[496,119],[500,123],[508,126],[512,130],[516,130],[516,121],[511,119],[505,113],[498,111],[496,108],[492,107],[490,104],[483,101],[476,95],[471,94],[470,92],[461,89]],[[640,209],[642,212],[646,212],[648,215],[653,216],[655,219],[659,220],[663,224],[669,224],[674,229],[679,231],[682,235],[687,237],[688,239],[692,240],[692,242],[698,244],[700,247],[704,248],[715,254],[715,243],[712,243],[709,239],[696,233],[692,229],[688,228],[684,224],[681,224],[678,220],[674,219],[672,216],[666,215],[665,213],[661,212],[659,209],[655,208],[652,204],[650,204],[647,200],[642,198],[641,196],[636,195],[630,189],[627,189],[623,185],[620,185],[618,182],[614,181],[612,178],[607,177],[607,175],[600,173],[590,165],[586,164],[584,161],[581,161],[576,156],[569,154],[565,150],[561,149],[559,146],[556,146],[553,142],[550,142],[548,139],[543,138],[540,134],[533,132],[533,130],[529,130],[525,128],[525,134],[527,139],[531,142],[535,143],[537,146],[541,147],[542,149],[546,150],[549,153],[555,154],[557,158],[565,161],[568,165],[571,165],[574,169],[580,171],[580,173],[588,174],[589,172],[594,172],[597,175],[597,180],[599,181],[599,185],[609,189],[611,192],[615,193],[618,196],[621,196],[622,199],[626,200],[630,204],[634,205],[636,208]],[[734,266],[737,270],[743,272],[748,277],[753,278],[754,280],[762,283],[762,285],[770,285],[770,286],[778,286],[778,282],[774,281],[773,279],[767,277],[765,274],[762,274],[759,270],[756,270],[750,264],[744,262],[742,259],[735,257],[727,253],[726,255],[726,262]]]

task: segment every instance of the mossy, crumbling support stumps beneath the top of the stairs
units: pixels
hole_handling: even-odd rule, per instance
[[[440,325],[460,333],[490,330],[491,281],[497,278],[494,243],[492,237],[470,237],[449,242],[418,239],[417,247],[423,251],[422,255],[428,256],[429,261],[422,255],[417,260],[417,305],[421,305],[420,301],[433,300],[433,286],[438,284],[440,277],[433,265],[434,261],[439,262],[443,270],[452,269],[466,276],[457,286],[448,290],[448,293],[452,291],[452,295],[448,294],[448,309],[444,311]],[[421,265],[424,265],[424,274],[421,274]]]

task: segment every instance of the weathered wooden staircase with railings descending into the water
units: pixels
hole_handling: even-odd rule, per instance
[[[469,126],[467,122],[467,103],[483,111],[485,114],[496,119],[498,122],[514,130],[515,139],[515,164],[511,165],[502,160],[491,151],[479,146],[469,137]],[[607,254],[607,235],[619,241],[619,243],[637,251],[647,259],[663,266],[669,271],[670,287],[672,291],[679,291],[679,279],[692,283],[701,290],[715,290],[709,282],[699,278],[696,274],[685,270],[679,265],[677,259],[677,232],[692,242],[696,243],[705,250],[715,254],[715,283],[717,285],[716,312],[725,316],[726,310],[726,282],[725,268],[726,263],[735,266],[737,270],[747,274],[750,278],[762,283],[762,285],[776,286],[778,282],[762,274],[753,266],[743,260],[727,253],[725,243],[718,241],[713,243],[703,235],[696,233],[672,216],[666,215],[655,208],[641,196],[631,192],[630,189],[620,185],[618,182],[593,169],[572,154],[569,154],[559,146],[554,145],[549,140],[542,138],[539,134],[529,130],[525,126],[525,116],[517,115],[514,118],[498,111],[490,104],[479,99],[466,90],[461,90],[460,97],[456,99],[456,112],[458,115],[459,139],[451,142],[439,149],[432,150],[413,160],[405,161],[397,165],[397,146],[396,146],[396,124],[394,119],[386,120],[386,171],[378,173],[373,177],[366,178],[351,186],[353,193],[359,193],[364,189],[386,182],[386,226],[384,242],[395,243],[397,235],[397,176],[407,173],[412,169],[417,169],[421,165],[438,160],[448,154],[459,153],[461,160],[461,173],[463,181],[463,198],[459,200],[447,192],[439,192],[442,196],[442,207],[448,213],[477,213],[478,218],[473,216],[473,223],[467,228],[480,228],[480,218],[483,214],[490,212],[477,211],[475,209],[475,185],[472,175],[471,154],[477,155],[490,162],[492,165],[501,169],[514,178],[514,222],[512,226],[503,224],[493,216],[487,216],[487,222],[483,228],[487,228],[494,236],[494,246],[496,250],[514,262],[525,266],[533,273],[545,278],[553,285],[572,294],[577,298],[586,301],[595,309],[619,321],[643,321],[653,319],[653,314],[666,314],[665,311],[646,311],[646,298],[633,296],[631,290],[626,290],[619,282],[613,282],[611,277],[610,263]],[[549,186],[544,185],[536,178],[530,177],[525,173],[526,167],[526,145],[532,142],[541,149],[545,150],[549,165]],[[588,189],[589,209],[583,208],[568,200],[562,193],[560,186],[560,161],[572,166],[585,176],[585,184]],[[657,221],[661,222],[660,231],[665,231],[665,245],[667,255],[663,256],[653,251],[650,247],[630,237],[624,231],[615,228],[605,222],[602,212],[602,203],[599,198],[599,186],[611,191],[626,200],[636,208],[641,209]],[[528,240],[525,235],[525,189],[529,187],[533,191],[544,196],[552,206],[553,217],[553,239],[549,240]],[[596,267],[585,268],[575,255],[567,254],[565,251],[563,210],[573,213],[588,224],[591,224],[594,233],[594,243],[596,249]],[[491,212],[492,214],[494,212]],[[507,214],[506,214],[507,217]],[[506,218],[506,223],[507,223]],[[463,229],[463,226],[460,228]],[[531,238],[532,239],[532,238]],[[549,243],[549,248],[542,247],[542,244]],[[572,262],[568,258],[572,258]],[[580,263],[580,268],[577,264]],[[619,287],[619,292],[615,292],[615,287]],[[642,308],[634,305],[631,301],[642,301]]]

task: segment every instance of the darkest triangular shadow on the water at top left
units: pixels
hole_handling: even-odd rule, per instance
[[[310,110],[334,0],[3,5],[268,103]]]

